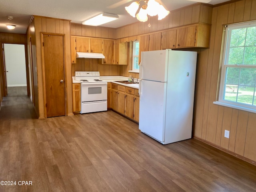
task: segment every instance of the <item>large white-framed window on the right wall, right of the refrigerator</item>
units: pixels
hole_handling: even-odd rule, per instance
[[[256,113],[256,22],[226,26],[218,102]]]

